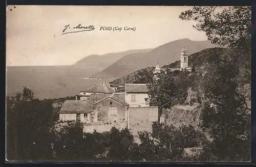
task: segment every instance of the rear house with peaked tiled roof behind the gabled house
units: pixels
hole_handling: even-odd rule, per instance
[[[110,84],[105,81],[102,81],[99,84],[91,88],[88,88],[87,90],[80,91],[79,97],[80,100],[85,100],[92,94],[110,95],[113,92],[115,91],[110,87]]]

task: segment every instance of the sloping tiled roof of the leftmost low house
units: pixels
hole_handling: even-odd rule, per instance
[[[59,113],[90,113],[93,110],[89,100],[65,100]]]

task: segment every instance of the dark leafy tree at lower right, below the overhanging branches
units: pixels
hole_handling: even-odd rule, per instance
[[[212,151],[220,160],[245,160],[250,150],[250,110],[245,97],[237,92],[239,70],[227,56],[216,59],[203,77],[208,100],[203,108],[202,127],[214,138]]]

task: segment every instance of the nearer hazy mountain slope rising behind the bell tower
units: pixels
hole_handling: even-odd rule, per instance
[[[180,59],[180,50],[184,46],[188,49],[189,54],[193,54],[216,45],[209,41],[191,41],[189,39],[172,41],[149,52],[125,55],[108,68],[92,75],[92,77],[120,77],[142,68],[156,66],[157,63],[160,66],[173,63]]]

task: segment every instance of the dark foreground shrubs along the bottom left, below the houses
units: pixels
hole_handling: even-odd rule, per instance
[[[83,133],[83,124],[78,121],[56,123],[56,120],[52,120],[51,104],[54,100],[31,99],[15,103],[12,99],[18,98],[7,99],[9,160],[177,160],[182,157],[182,147],[194,146],[200,140],[192,128],[159,127],[158,123],[153,124],[152,134],[138,132],[141,144],[134,143],[128,129],[113,127],[109,132],[99,133],[95,130],[93,133]],[[184,137],[186,143],[191,145],[182,144]]]

